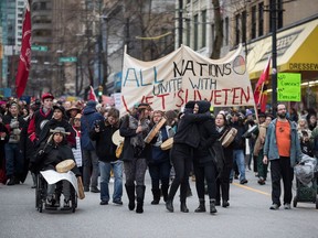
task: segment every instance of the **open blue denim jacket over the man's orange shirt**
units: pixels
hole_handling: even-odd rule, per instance
[[[276,123],[277,119],[273,120],[267,128],[264,155],[267,155],[268,160],[279,159],[277,140],[276,140]],[[289,121],[290,125],[290,166],[295,166],[301,160],[300,142],[297,134],[297,125],[294,121]]]

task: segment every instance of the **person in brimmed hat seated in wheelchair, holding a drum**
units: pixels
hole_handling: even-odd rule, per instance
[[[47,171],[54,170],[56,171],[55,166],[60,162],[72,159],[74,160],[74,154],[70,145],[67,145],[65,129],[62,127],[56,127],[54,130],[51,130],[52,134],[49,137],[46,143],[40,144],[40,148],[34,156],[34,161],[30,164],[30,170],[39,172],[39,171]],[[75,160],[74,160],[75,161]],[[72,169],[72,172],[76,176],[81,176],[81,172],[78,167],[75,165]],[[71,201],[71,183],[66,180],[62,181],[61,183],[56,184],[47,184],[47,192],[46,192],[46,201],[45,206],[51,207],[60,206],[60,196],[61,192],[63,191],[64,195],[64,208],[70,208],[70,201]],[[56,185],[56,186],[55,186]]]

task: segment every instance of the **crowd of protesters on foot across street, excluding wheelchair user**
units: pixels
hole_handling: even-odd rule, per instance
[[[245,171],[253,170],[258,176],[258,184],[264,185],[271,162],[271,209],[280,206],[280,176],[288,190],[284,207],[289,209],[293,166],[299,162],[301,153],[314,156],[318,151],[316,111],[298,115],[292,109],[287,112],[285,105],[279,104],[275,119],[272,113],[255,115],[253,109],[237,108],[222,109],[214,116],[210,108],[210,102],[203,100],[189,101],[184,109],[169,111],[137,104],[120,118],[115,107],[97,105],[92,100],[60,101],[49,93],[29,105],[14,98],[3,99],[0,101],[0,183],[8,186],[24,183],[31,171],[32,187],[35,187],[39,164],[34,163],[34,156],[39,156],[39,149],[49,143],[51,131],[59,128],[61,137],[73,151],[78,167],[76,173],[83,176],[84,191],[100,193],[100,205],[107,205],[110,199],[123,205],[124,184],[128,208],[144,213],[145,174],[149,169],[152,205],[159,204],[163,196],[167,209],[173,212],[173,198],[180,186],[180,210],[188,213],[189,176],[193,174],[199,197],[195,212],[206,210],[204,197],[208,194],[210,213],[215,214],[215,206],[230,206],[230,184],[233,180],[247,184]],[[150,142],[145,142],[162,118],[166,122]],[[237,132],[233,142],[223,148],[220,170],[210,149],[231,128]],[[119,158],[116,156],[117,144],[112,140],[117,130],[125,138]],[[279,132],[283,139],[277,139]],[[169,138],[173,138],[172,149],[162,149],[160,145]],[[277,139],[277,144],[273,144],[274,139]],[[113,196],[108,188],[112,174],[115,177]],[[60,198],[55,199],[60,206]],[[47,203],[52,205],[52,197]]]

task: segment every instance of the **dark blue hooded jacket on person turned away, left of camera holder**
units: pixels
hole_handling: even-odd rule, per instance
[[[81,147],[83,150],[95,150],[95,147],[89,139],[89,131],[94,128],[96,120],[105,120],[104,117],[96,111],[95,107],[86,106],[81,118]]]

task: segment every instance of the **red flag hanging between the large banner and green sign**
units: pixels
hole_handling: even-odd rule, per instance
[[[256,107],[257,108],[261,107],[262,112],[265,112],[266,110],[269,67],[271,67],[271,57],[268,57],[267,65],[264,68],[254,90],[254,99]]]

